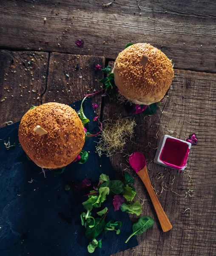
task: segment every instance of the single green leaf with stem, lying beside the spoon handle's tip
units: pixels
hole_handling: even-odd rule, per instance
[[[151,218],[150,216],[143,216],[139,218],[138,222],[134,223],[133,225],[133,233],[131,234],[131,236],[128,237],[125,243],[127,243],[132,236],[141,235],[143,232],[145,232],[145,230],[152,227],[153,224],[154,224],[153,218]]]

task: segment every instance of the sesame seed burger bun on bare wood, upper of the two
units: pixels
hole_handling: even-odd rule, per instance
[[[142,57],[147,57],[144,66]],[[146,64],[145,64],[146,63]],[[171,61],[151,44],[133,44],[119,53],[114,64],[115,84],[135,104],[159,102],[173,80]]]

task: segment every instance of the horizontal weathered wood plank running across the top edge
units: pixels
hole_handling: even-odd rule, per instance
[[[216,1],[139,0],[142,11],[136,0],[104,3],[2,0],[0,47],[115,59],[128,42],[148,42],[176,68],[216,72]]]

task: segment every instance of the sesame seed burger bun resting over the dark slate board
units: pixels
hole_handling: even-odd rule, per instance
[[[37,134],[34,131],[37,125],[47,134]],[[19,126],[19,141],[38,166],[57,169],[67,166],[77,157],[85,142],[85,132],[73,108],[49,102],[25,113]]]

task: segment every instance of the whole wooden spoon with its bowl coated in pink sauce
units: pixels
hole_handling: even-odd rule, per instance
[[[150,195],[152,204],[156,211],[163,232],[171,230],[172,225],[168,220],[167,215],[165,214],[160,202],[158,201],[157,196],[153,191],[153,187],[151,186],[151,181],[148,177],[148,171],[146,168],[146,161],[144,155],[141,152],[134,152],[129,157],[129,163],[134,171],[139,175],[140,179],[142,180],[148,191],[148,194]]]

